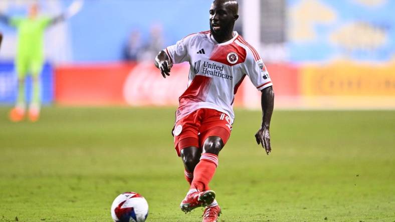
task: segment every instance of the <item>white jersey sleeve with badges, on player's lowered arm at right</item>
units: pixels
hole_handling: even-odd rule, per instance
[[[258,90],[273,85],[272,79],[262,59],[255,61],[253,57],[247,57],[245,69],[246,74],[250,77],[250,80]]]

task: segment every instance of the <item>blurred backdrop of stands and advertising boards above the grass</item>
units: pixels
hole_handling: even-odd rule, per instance
[[[2,0],[25,15],[32,1]],[[55,16],[71,0],[41,0]],[[236,29],[261,53],[276,108],[395,108],[395,1],[240,0]],[[209,29],[211,0],[85,0],[82,10],[45,34],[43,102],[59,105],[177,105],[188,64],[162,79],[155,54],[189,33]],[[13,104],[18,34],[0,23],[0,103]],[[29,87],[29,84],[28,84]],[[155,88],[155,90],[152,90]],[[29,98],[29,90],[28,90]],[[249,81],[236,106],[259,108]]]

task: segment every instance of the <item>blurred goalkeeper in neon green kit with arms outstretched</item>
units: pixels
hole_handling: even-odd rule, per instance
[[[25,117],[25,79],[32,75],[33,91],[29,105],[29,119],[37,121],[41,108],[40,74],[45,61],[43,53],[44,31],[50,25],[63,21],[76,14],[82,7],[82,0],[74,1],[69,8],[56,17],[39,16],[39,5],[33,3],[27,17],[9,17],[0,12],[0,21],[18,30],[17,56],[15,58],[18,75],[18,95],[15,107],[10,111],[12,121],[21,121]]]

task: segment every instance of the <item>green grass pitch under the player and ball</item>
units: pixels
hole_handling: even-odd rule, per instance
[[[111,221],[137,191],[147,221],[184,214],[188,189],[170,130],[174,108],[45,107],[37,123],[0,108],[0,221]],[[260,111],[236,121],[211,187],[221,221],[395,221],[395,111],[275,111],[273,152],[255,142]]]

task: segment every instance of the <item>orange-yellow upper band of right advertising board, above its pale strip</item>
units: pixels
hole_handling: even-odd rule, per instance
[[[301,92],[305,96],[395,97],[395,63],[305,65],[300,74]]]

